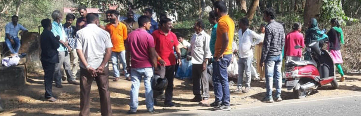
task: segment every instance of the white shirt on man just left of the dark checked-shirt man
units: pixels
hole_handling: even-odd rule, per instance
[[[263,39],[262,36],[258,35],[256,32],[250,30],[247,28],[245,32],[242,35],[242,29],[239,29],[238,31],[238,37],[239,37],[239,58],[247,58],[253,56],[253,51],[251,49],[252,46],[258,44]],[[253,42],[253,39],[256,39],[256,41]]]

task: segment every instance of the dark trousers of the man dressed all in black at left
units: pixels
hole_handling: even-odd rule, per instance
[[[45,99],[53,97],[52,87],[55,72],[55,63],[41,61],[44,70]]]

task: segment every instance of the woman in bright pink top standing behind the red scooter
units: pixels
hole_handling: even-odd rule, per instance
[[[295,49],[296,45],[305,47],[303,34],[300,33],[302,26],[300,23],[293,23],[293,31],[288,33],[284,43],[284,53],[286,58],[286,63],[289,60],[300,61],[302,57],[302,49]]]

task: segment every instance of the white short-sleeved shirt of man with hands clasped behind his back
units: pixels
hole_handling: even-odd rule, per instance
[[[106,48],[113,47],[109,33],[96,24],[87,24],[77,31],[75,38],[75,48],[83,51],[86,61],[93,68],[98,68],[103,62]],[[83,63],[80,63],[80,67],[86,69]]]

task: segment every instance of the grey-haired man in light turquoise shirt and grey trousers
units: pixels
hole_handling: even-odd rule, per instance
[[[59,62],[55,63],[55,73],[54,73],[54,80],[55,80],[55,87],[62,88],[61,85],[61,66],[64,66],[64,70],[66,76],[68,77],[69,84],[79,85],[79,82],[75,81],[75,78],[72,76],[73,73],[70,70],[70,59],[69,59],[69,41],[66,40],[66,34],[64,28],[61,24],[61,20],[63,18],[63,14],[59,10],[55,10],[51,17],[54,19],[52,23],[51,32],[53,32],[54,36],[60,36],[59,40],[59,48],[58,50],[58,57]]]

